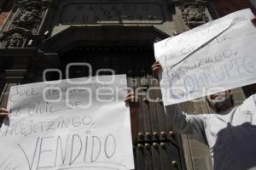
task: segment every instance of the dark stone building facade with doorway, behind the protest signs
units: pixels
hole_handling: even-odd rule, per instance
[[[127,74],[132,88],[143,87],[146,91],[159,87],[150,71],[154,42],[251,7],[247,0],[227,2],[19,0],[14,5],[12,1],[0,3],[2,105],[6,105],[8,94],[5,93],[12,85],[41,82],[45,69],[65,71],[65,66],[72,62],[89,62],[96,69],[111,68],[118,74]],[[73,77],[85,76],[82,72],[73,70]],[[49,76],[55,79],[54,74]],[[241,89],[235,91],[237,101],[241,101],[244,94]],[[164,114],[160,91],[150,95],[159,102],[150,103],[140,96],[139,117],[131,120],[137,170],[211,170],[207,145],[173,133]],[[205,102],[186,102],[182,107],[190,113],[211,111]]]

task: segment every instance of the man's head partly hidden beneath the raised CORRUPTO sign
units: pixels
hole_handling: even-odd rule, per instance
[[[208,95],[207,102],[212,110],[216,111],[217,113],[227,111],[234,107],[233,94],[231,90]]]

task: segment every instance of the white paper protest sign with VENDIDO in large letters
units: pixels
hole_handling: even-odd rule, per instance
[[[126,93],[125,75],[12,87],[0,169],[134,169]]]

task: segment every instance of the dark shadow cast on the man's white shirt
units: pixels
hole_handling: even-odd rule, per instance
[[[228,123],[219,131],[213,153],[214,170],[256,170],[256,126]]]

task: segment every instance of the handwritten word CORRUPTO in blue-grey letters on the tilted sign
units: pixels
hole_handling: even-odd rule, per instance
[[[166,81],[164,83],[169,86],[162,94],[166,94],[171,99],[189,100],[195,93],[205,96],[223,92],[227,89],[226,82],[235,82],[234,80],[244,77],[253,78],[256,71],[256,60],[252,56],[238,56],[221,65],[207,65],[207,69],[205,68],[190,71],[190,74],[180,77],[164,75]]]

